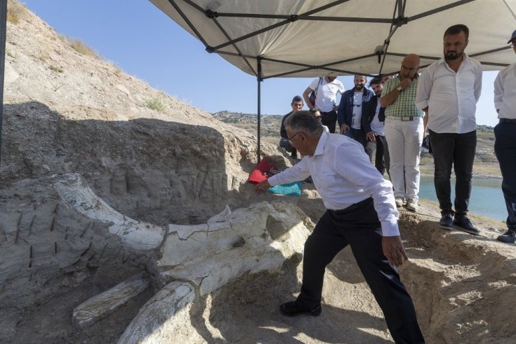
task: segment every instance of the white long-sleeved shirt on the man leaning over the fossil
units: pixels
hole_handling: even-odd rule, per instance
[[[304,156],[268,182],[287,184],[310,175],[326,209],[346,209],[372,197],[384,237],[400,235],[393,184],[372,165],[362,144],[344,135],[322,133],[314,155]]]

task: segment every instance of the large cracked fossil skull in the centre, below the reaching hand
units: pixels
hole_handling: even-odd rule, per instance
[[[192,281],[204,295],[247,272],[278,270],[302,252],[309,234],[294,209],[262,202],[226,209],[203,225],[169,225],[158,261],[161,275]]]

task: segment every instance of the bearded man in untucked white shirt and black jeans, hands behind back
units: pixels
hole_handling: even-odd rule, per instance
[[[441,208],[441,228],[456,225],[478,234],[467,218],[476,149],[476,103],[482,89],[482,66],[464,54],[469,29],[457,24],[444,32],[444,58],[425,68],[419,78],[416,106],[426,113],[425,126],[434,151],[434,186]],[[455,211],[450,175],[455,170]]]

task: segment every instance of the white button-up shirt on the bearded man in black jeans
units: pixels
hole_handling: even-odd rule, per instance
[[[457,73],[444,59],[419,77],[416,107],[428,107],[428,128],[436,133],[469,133],[476,129],[476,103],[482,91],[482,66],[467,57]]]

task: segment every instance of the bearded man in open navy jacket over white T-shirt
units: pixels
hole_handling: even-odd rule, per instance
[[[360,142],[363,146],[365,146],[365,134],[361,124],[362,110],[363,105],[373,95],[372,91],[365,88],[366,82],[367,77],[364,75],[355,75],[355,87],[342,94],[337,110],[340,133]]]

